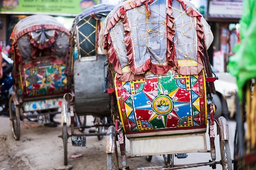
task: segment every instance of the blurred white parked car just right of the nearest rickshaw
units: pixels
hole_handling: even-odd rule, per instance
[[[236,113],[236,78],[231,76],[229,73],[220,73],[213,67],[212,71],[218,77],[218,80],[214,82],[216,94],[212,95],[212,102],[217,107],[215,111],[215,119],[222,115],[231,119]]]

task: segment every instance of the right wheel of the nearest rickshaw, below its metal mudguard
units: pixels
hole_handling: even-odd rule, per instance
[[[220,136],[220,150],[221,150],[222,170],[232,170],[233,167],[232,167],[229,140],[221,140],[221,136]]]

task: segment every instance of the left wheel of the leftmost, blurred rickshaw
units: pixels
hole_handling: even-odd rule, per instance
[[[9,113],[11,120],[12,134],[16,141],[20,140],[20,109],[15,106],[14,97],[9,99]]]

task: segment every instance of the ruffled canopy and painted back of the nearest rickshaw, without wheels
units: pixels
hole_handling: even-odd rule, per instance
[[[182,0],[134,0],[109,16],[102,42],[127,138],[205,133],[201,14]]]

